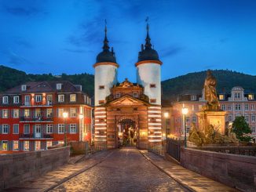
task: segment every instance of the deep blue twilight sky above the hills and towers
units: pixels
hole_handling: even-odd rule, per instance
[[[146,16],[163,80],[208,68],[256,74],[254,0],[0,0],[0,64],[93,74],[106,19],[119,81],[135,82]]]

